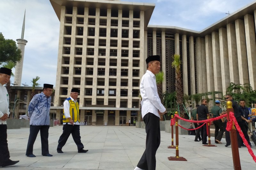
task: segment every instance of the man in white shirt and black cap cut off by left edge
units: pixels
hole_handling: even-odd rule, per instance
[[[7,144],[7,123],[9,112],[9,95],[4,85],[10,81],[11,69],[0,68],[0,166],[11,166],[17,164],[19,160],[12,161]]]

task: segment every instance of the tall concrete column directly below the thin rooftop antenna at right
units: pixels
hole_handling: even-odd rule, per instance
[[[236,46],[236,28],[234,24],[227,25],[227,37],[228,37],[228,61],[229,61],[229,73],[230,82],[239,84],[239,72],[238,72],[238,57]]]

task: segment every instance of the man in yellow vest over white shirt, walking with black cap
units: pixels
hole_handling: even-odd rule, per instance
[[[81,142],[80,136],[80,119],[79,119],[79,103],[77,102],[79,90],[77,88],[71,89],[70,97],[63,103],[63,133],[60,136],[57,146],[57,152],[62,152],[62,147],[66,144],[68,137],[72,134],[74,142],[76,143],[78,153],[86,153],[84,145]]]

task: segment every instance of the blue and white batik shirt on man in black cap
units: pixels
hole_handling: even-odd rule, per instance
[[[43,92],[36,94],[28,105],[30,125],[50,125],[50,107],[52,97]]]

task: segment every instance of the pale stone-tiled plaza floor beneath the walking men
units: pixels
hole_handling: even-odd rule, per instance
[[[90,170],[133,170],[145,150],[145,129],[134,126],[80,126],[81,141],[87,153],[77,153],[77,147],[70,135],[64,153],[57,153],[58,139],[62,126],[49,129],[49,152],[52,157],[41,155],[40,133],[34,144],[35,158],[25,156],[29,129],[8,129],[8,147],[12,160],[20,160],[15,166],[0,169],[11,170],[59,170],[59,169],[90,169]],[[200,170],[200,169],[234,169],[231,147],[216,144],[217,147],[205,147],[201,142],[194,141],[195,136],[179,136],[179,156],[188,161],[169,161],[175,156],[175,149],[167,149],[171,144],[171,134],[161,131],[161,144],[156,153],[157,170]],[[213,143],[212,138],[212,143]],[[175,143],[174,143],[175,144]],[[252,146],[256,154],[256,147]],[[253,161],[246,147],[239,148],[242,169],[255,170]]]

